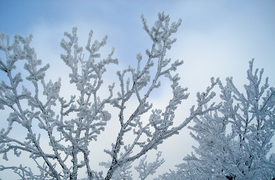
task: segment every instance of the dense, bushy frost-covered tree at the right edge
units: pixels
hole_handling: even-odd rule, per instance
[[[190,134],[199,143],[193,147],[199,157],[187,155],[177,171],[160,179],[275,179],[275,155],[267,158],[275,129],[275,89],[269,88],[268,78],[261,83],[263,69],[253,72],[253,61],[249,62],[245,95],[232,77],[227,78],[226,86],[218,83],[222,107],[194,118],[196,125],[189,129],[196,133]]]

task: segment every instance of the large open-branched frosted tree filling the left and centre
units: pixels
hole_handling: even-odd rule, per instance
[[[42,65],[42,60],[37,59],[35,49],[30,47],[32,35],[24,38],[16,34],[13,43],[10,44],[8,34],[1,33],[0,50],[4,51],[6,57],[0,59],[0,69],[6,77],[1,77],[0,109],[9,109],[11,113],[7,118],[7,128],[0,131],[0,153],[5,160],[12,156],[11,151],[15,156],[20,156],[21,152],[28,153],[40,173],[34,173],[25,162],[20,166],[1,165],[0,171],[12,169],[24,180],[76,180],[79,169],[85,168],[88,179],[109,180],[118,168],[127,167],[128,163],[145,155],[149,150],[156,149],[163,140],[178,134],[179,130],[196,116],[221,107],[221,104],[213,103],[203,109],[215,96],[211,90],[219,81],[212,79],[211,87],[207,88],[206,92],[198,93],[198,106],[191,108],[190,116],[182,119],[179,126],[173,126],[174,111],[182,100],[188,98],[189,93],[186,93],[187,88],[179,85],[180,77],[178,73],[174,73],[183,61],[176,60],[172,63],[171,58],[165,56],[171,45],[176,42],[176,39],[171,39],[170,36],[177,32],[182,20],[179,19],[169,26],[169,16],[159,13],[151,29],[148,28],[143,15],[141,20],[143,29],[152,40],[151,50],[145,51],[145,66],[141,67],[142,55],[138,53],[135,69],[129,66],[116,73],[120,82],[117,96],[113,95],[115,84],[111,84],[108,86],[109,95],[107,94],[106,98],[98,95],[98,90],[103,84],[102,75],[106,72],[105,66],[118,64],[118,59],[112,58],[114,48],[107,58],[100,60],[101,54],[98,51],[106,44],[107,36],[101,42],[95,40],[91,43],[93,31],[90,31],[85,47],[89,55],[84,57],[83,48],[78,45],[77,28],[73,28],[71,33],[64,33],[67,40],[62,39],[60,45],[64,48],[65,54],[61,54],[60,57],[71,69],[70,83],[75,84],[79,92],[78,97],[72,94],[70,99],[65,99],[59,94],[60,78],[56,82],[45,82],[44,77],[50,65]],[[27,71],[28,76],[23,77],[16,69],[18,60],[25,61],[24,69],[19,69]],[[156,68],[152,68],[153,66]],[[156,71],[153,72],[152,69]],[[130,78],[126,79],[127,76]],[[153,105],[148,98],[154,89],[160,88],[160,78],[171,81],[173,95],[164,110],[151,110]],[[28,81],[33,87],[27,85]],[[132,97],[137,98],[138,106],[130,117],[126,118],[124,112],[129,109],[126,102]],[[90,154],[90,148],[111,119],[111,114],[105,108],[107,104],[119,110],[118,116],[115,116],[118,118],[112,120],[117,120],[120,127],[116,141],[110,147],[106,147],[109,150],[105,149],[110,155],[110,166],[104,175],[103,171],[96,172],[91,168],[90,159],[94,155]],[[58,111],[55,111],[56,109]],[[152,112],[145,119],[144,116],[149,110]],[[27,132],[26,141],[10,135],[12,131],[16,131],[13,127],[18,126]],[[38,128],[39,131],[35,131]],[[132,133],[135,138],[123,149],[123,139],[128,133]],[[41,138],[43,142],[48,141],[50,148],[42,146]],[[142,179],[154,171],[150,166],[149,163],[143,163],[137,167]],[[125,173],[127,174],[127,168]]]

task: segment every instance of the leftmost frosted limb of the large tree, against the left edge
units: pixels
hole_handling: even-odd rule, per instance
[[[41,157],[46,165],[49,168],[49,171],[51,172],[51,176],[56,179],[60,179],[60,176],[58,172],[55,170],[54,165],[50,162],[49,159],[57,158],[53,155],[47,155],[42,150],[39,139],[36,138],[36,134],[33,133],[32,130],[32,121],[33,119],[38,119],[42,117],[44,119],[44,122],[46,125],[43,127],[48,132],[49,137],[51,136],[51,129],[49,126],[49,121],[51,121],[51,111],[50,108],[49,111],[46,111],[46,106],[42,104],[42,102],[39,100],[38,97],[38,81],[42,81],[45,77],[45,71],[49,68],[49,64],[46,66],[40,68],[37,70],[37,66],[41,65],[41,60],[36,58],[36,53],[34,51],[34,48],[31,48],[29,46],[31,42],[32,35],[30,35],[27,38],[23,38],[22,36],[15,35],[14,41],[11,46],[9,46],[9,36],[7,37],[7,45],[5,46],[3,43],[3,39],[5,37],[4,33],[1,33],[1,41],[0,46],[1,50],[5,51],[6,54],[6,64],[2,62],[2,71],[6,73],[7,77],[9,78],[9,85],[6,85],[4,81],[2,81],[0,85],[0,96],[1,96],[1,107],[4,109],[4,106],[7,106],[11,108],[13,112],[9,114],[9,118],[7,119],[9,122],[9,126],[7,131],[5,129],[1,130],[0,134],[0,143],[1,143],[1,149],[0,152],[3,153],[3,159],[8,160],[7,152],[9,150],[14,150],[16,156],[20,156],[21,152],[17,152],[17,150],[23,150],[27,152],[31,152],[33,156],[30,156],[32,159],[36,159],[37,157]],[[24,45],[24,48],[22,49],[20,46],[20,43]],[[13,50],[13,54],[10,54],[10,51]],[[17,91],[17,87],[20,82],[23,81],[21,78],[21,73],[18,72],[14,77],[12,76],[13,69],[16,69],[16,66],[14,65],[17,60],[19,59],[25,59],[27,62],[24,64],[24,69],[27,70],[30,75],[26,77],[28,81],[31,81],[31,83],[35,87],[35,96],[31,96],[31,92],[28,91],[27,88],[22,86],[22,93],[19,94]],[[57,90],[56,93],[59,91]],[[28,101],[29,106],[31,107],[31,111],[26,109],[24,110],[21,106],[21,101],[26,99]],[[54,103],[54,100],[53,100]],[[48,105],[48,107],[51,104]],[[35,110],[36,109],[36,110]],[[38,110],[37,110],[38,109]],[[40,111],[39,111],[40,110]],[[23,128],[27,129],[27,137],[25,138],[28,140],[27,142],[20,142],[14,139],[11,139],[8,137],[10,130],[12,129],[12,125],[14,122],[17,122],[20,124]],[[10,144],[13,143],[13,144]],[[58,158],[57,158],[58,159]],[[36,161],[37,162],[37,161]],[[3,169],[2,169],[3,170]],[[22,171],[24,173],[24,171]]]

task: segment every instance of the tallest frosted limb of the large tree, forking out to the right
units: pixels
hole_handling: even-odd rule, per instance
[[[156,149],[163,140],[171,137],[174,134],[178,134],[178,131],[185,127],[193,118],[198,115],[203,115],[209,111],[215,111],[221,104],[215,106],[211,104],[208,108],[203,110],[203,107],[209,103],[211,99],[215,96],[215,93],[211,93],[211,90],[216,84],[218,84],[219,79],[216,81],[211,79],[211,87],[207,88],[207,91],[198,94],[198,107],[194,110],[194,107],[191,108],[191,113],[185,121],[182,122],[180,126],[173,126],[174,120],[174,111],[178,108],[178,105],[182,103],[182,100],[187,99],[189,93],[186,93],[187,88],[182,88],[178,81],[180,77],[178,73],[172,75],[172,72],[177,70],[177,67],[183,64],[183,61],[176,60],[174,63],[171,63],[171,58],[165,58],[166,51],[170,50],[171,45],[176,41],[170,39],[170,36],[177,32],[178,27],[181,24],[181,19],[179,21],[173,22],[169,27],[170,17],[169,15],[165,16],[164,13],[158,14],[158,20],[155,22],[155,25],[149,30],[146,19],[144,16],[141,16],[143,23],[143,29],[152,39],[152,50],[148,49],[145,51],[145,54],[148,56],[148,61],[141,70],[140,62],[142,60],[141,53],[137,54],[138,65],[137,69],[132,68],[131,66],[128,69],[123,70],[123,72],[118,71],[117,75],[120,81],[121,91],[118,92],[118,97],[113,99],[113,106],[119,108],[119,122],[121,125],[120,132],[117,136],[115,144],[112,144],[112,150],[105,150],[112,157],[111,166],[108,170],[105,180],[108,180],[112,177],[113,172],[121,164],[134,161],[135,159],[140,158],[142,155],[146,154],[151,149]],[[158,49],[156,49],[158,48]],[[156,59],[154,63],[153,59]],[[156,72],[154,73],[154,78],[151,81],[150,69],[156,64]],[[125,74],[131,73],[132,75],[132,88],[130,88],[130,79],[127,81],[124,80]],[[152,74],[152,73],[151,73]],[[155,88],[160,87],[160,77],[167,78],[171,81],[171,88],[173,97],[169,101],[167,107],[164,111],[160,109],[152,110],[152,114],[149,117],[147,122],[141,121],[141,115],[145,114],[152,108],[152,103],[149,103],[147,99],[153,92]],[[126,82],[126,84],[124,84]],[[150,83],[150,84],[149,84]],[[147,87],[147,91],[144,95],[141,95],[141,90]],[[125,119],[124,111],[127,109],[125,103],[135,94],[137,96],[139,105],[136,110],[130,115],[130,118]],[[145,122],[145,126],[142,124]],[[128,151],[125,154],[118,158],[118,154],[121,152],[121,146],[124,144],[123,137],[127,132],[129,132],[133,127],[133,133],[136,135],[132,144],[129,144]],[[147,141],[141,141],[142,136],[147,136]],[[136,147],[141,148],[138,153],[132,156],[128,156],[129,153]]]

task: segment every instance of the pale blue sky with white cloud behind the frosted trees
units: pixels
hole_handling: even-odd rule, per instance
[[[167,53],[167,58],[184,61],[178,68],[180,84],[188,87],[190,92],[189,99],[182,103],[177,112],[178,123],[185,119],[182,117],[186,117],[189,108],[196,104],[196,92],[204,91],[213,76],[220,77],[222,82],[232,76],[236,87],[243,91],[243,84],[248,82],[248,61],[252,58],[255,58],[255,68],[265,69],[264,77],[269,77],[270,86],[275,85],[275,1],[0,0],[0,32],[8,33],[11,40],[15,33],[24,37],[32,34],[34,38],[31,47],[35,48],[37,57],[42,59],[42,63],[51,65],[46,79],[57,81],[60,76],[63,84],[60,93],[66,94],[69,71],[60,59],[60,53],[65,53],[60,47],[65,31],[71,32],[72,27],[77,26],[79,46],[82,47],[86,46],[90,29],[94,31],[93,39],[101,40],[108,35],[107,44],[101,51],[102,57],[107,57],[114,46],[113,57],[119,59],[119,66],[109,66],[107,69],[109,74],[105,82],[108,85],[117,81],[117,70],[123,70],[129,64],[135,67],[136,54],[141,52],[146,57],[145,50],[152,46],[149,36],[142,29],[141,14],[144,14],[149,27],[152,27],[157,14],[163,11],[169,14],[170,22],[182,19],[178,32],[173,35],[177,42]],[[0,77],[4,78],[3,74],[0,73]],[[169,85],[164,82],[162,89],[151,99],[156,107],[161,106],[170,91]],[[113,117],[117,117],[113,113]],[[5,122],[5,118],[2,116],[0,121]],[[117,126],[115,122],[112,123],[113,127]],[[105,132],[111,129],[107,127]],[[106,137],[109,137],[108,133],[102,134],[98,141],[105,141]],[[113,140],[112,137],[108,139],[110,142],[104,144],[106,149],[110,148]],[[102,143],[97,145],[102,146]],[[182,163],[183,157],[191,153],[192,145],[196,145],[196,142],[191,139],[187,128],[164,141],[158,150],[163,152],[166,162],[153,177],[175,169],[174,165]],[[101,159],[105,158],[100,148],[92,152]],[[154,154],[156,151],[149,152],[152,159],[155,158]],[[105,160],[108,160],[108,156]],[[0,164],[3,161],[0,159]],[[97,163],[95,160],[94,164]],[[95,165],[94,168],[99,171],[103,167]],[[4,180],[4,176],[0,172],[0,178]],[[12,178],[15,179],[15,176]]]

